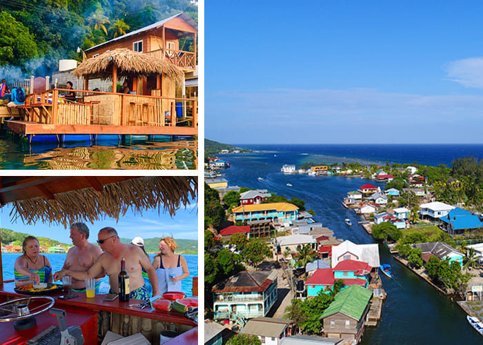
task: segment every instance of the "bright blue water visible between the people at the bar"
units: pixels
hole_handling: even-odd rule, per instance
[[[52,270],[57,272],[62,269],[63,262],[66,261],[67,254],[45,254],[48,257],[50,264],[52,265]],[[3,279],[14,279],[13,266],[15,260],[20,254],[13,253],[3,253],[1,255],[2,268],[3,268]],[[181,280],[181,290],[186,293],[186,295],[192,295],[193,288],[193,277],[198,276],[198,255],[183,255],[186,259],[186,264],[188,264],[188,270],[190,270],[190,276],[186,279]],[[155,257],[154,254],[150,255],[151,262]],[[101,293],[108,293],[109,290],[109,280],[108,277],[104,277],[102,281],[105,283],[101,286]]]

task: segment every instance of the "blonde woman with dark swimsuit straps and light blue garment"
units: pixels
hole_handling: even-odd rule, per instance
[[[175,239],[163,237],[159,240],[159,254],[152,260],[156,270],[159,294],[166,291],[181,291],[181,280],[189,277],[190,271],[186,259],[175,254],[178,248]]]

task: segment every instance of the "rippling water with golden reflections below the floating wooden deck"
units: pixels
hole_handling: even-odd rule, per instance
[[[125,140],[26,144],[0,134],[0,169],[197,169],[198,140],[145,136]]]

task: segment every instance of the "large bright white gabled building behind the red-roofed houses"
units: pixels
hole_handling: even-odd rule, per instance
[[[344,241],[338,246],[332,247],[332,267],[337,266],[342,260],[357,260],[367,262],[369,266],[379,268],[379,246],[377,244],[354,244]]]

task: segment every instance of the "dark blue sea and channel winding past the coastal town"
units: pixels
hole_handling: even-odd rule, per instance
[[[386,146],[380,148],[380,152],[391,152]],[[476,152],[467,152],[466,155],[483,157],[483,146],[476,146]],[[255,148],[250,146],[250,148]],[[291,146],[288,152],[280,150],[282,146],[257,146],[257,150],[270,152],[251,153],[247,155],[223,155],[230,161],[231,168],[224,170],[229,186],[246,186],[250,188],[266,188],[279,195],[297,197],[306,201],[306,208],[313,208],[317,214],[314,219],[322,221],[334,231],[335,236],[341,239],[349,239],[356,244],[373,243],[371,236],[357,224],[359,217],[351,210],[342,206],[342,198],[346,192],[355,190],[362,184],[370,182],[377,186],[374,181],[346,178],[346,177],[309,177],[308,175],[283,175],[280,171],[283,164],[300,164],[310,160],[308,157],[322,155],[335,157],[338,151],[318,151],[308,146],[300,150],[299,147]],[[285,146],[283,147],[285,149]],[[339,148],[342,150],[342,148]],[[355,148],[355,152],[364,151]],[[449,164],[458,157],[456,152],[462,152],[459,148],[437,148],[437,152],[446,150],[446,160],[442,163]],[[408,149],[408,152],[411,150]],[[393,152],[391,155],[371,158],[364,155],[361,158],[367,161],[398,161],[401,163],[411,162],[417,159],[424,164],[437,165],[440,162],[431,159],[429,152],[413,150],[413,156],[408,159],[402,157],[401,152]],[[308,155],[302,155],[308,153]],[[274,157],[274,155],[276,155]],[[453,156],[455,155],[455,156]],[[348,157],[344,153],[343,157]],[[393,157],[400,157],[396,160]],[[417,157],[417,158],[415,158]],[[425,158],[424,158],[425,157]],[[356,156],[353,159],[359,160]],[[400,161],[399,161],[400,159]],[[347,158],[342,161],[348,162]],[[332,160],[326,161],[331,163]],[[259,180],[258,177],[262,177]],[[293,187],[286,186],[287,183]],[[352,220],[353,226],[344,224],[344,219]],[[468,322],[466,315],[448,298],[440,295],[428,284],[424,283],[410,270],[397,263],[388,250],[380,246],[382,263],[391,264],[397,280],[391,280],[382,275],[384,288],[388,298],[382,310],[382,319],[377,327],[368,327],[362,337],[362,344],[483,344],[483,338]]]

